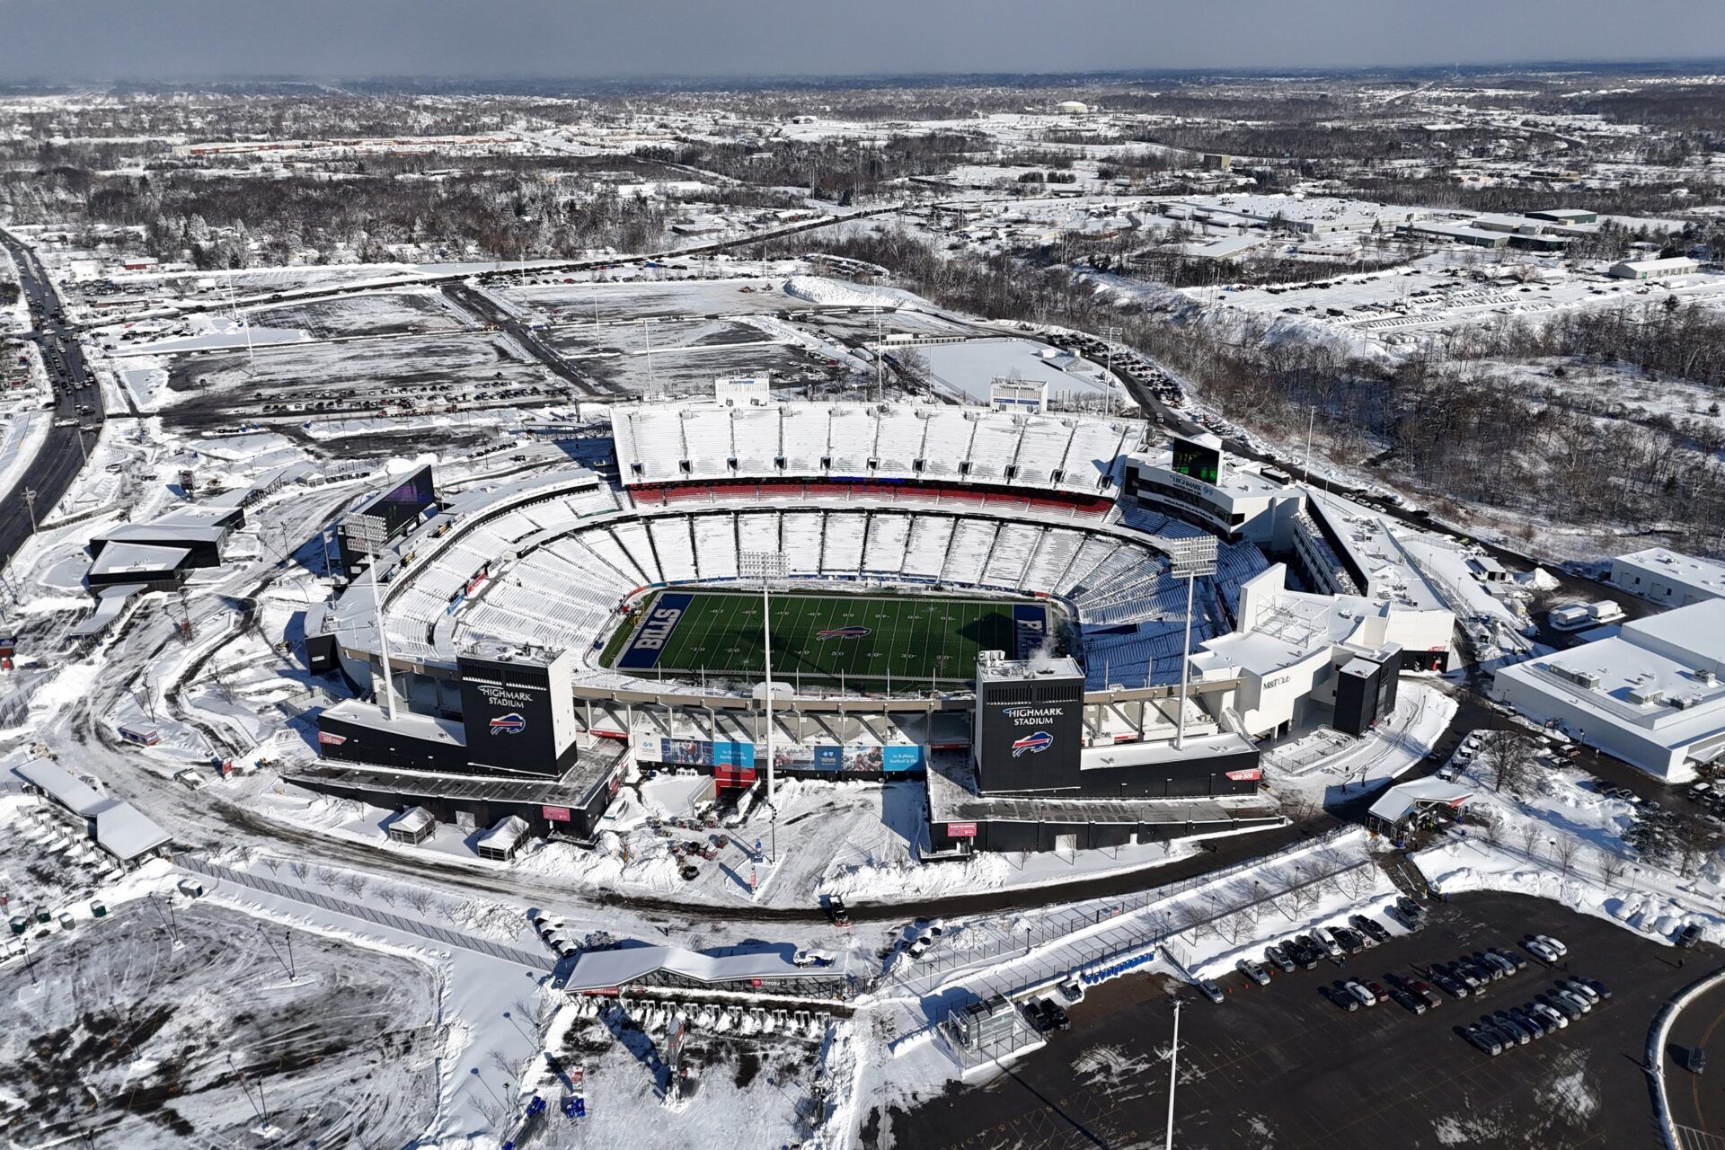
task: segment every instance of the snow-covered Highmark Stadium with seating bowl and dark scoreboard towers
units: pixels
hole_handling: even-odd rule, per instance
[[[1333,707],[1320,664],[1406,669],[1394,616],[1442,616],[1447,643],[1418,576],[1349,562],[1301,488],[1218,464],[1220,512],[1166,498],[1142,421],[692,400],[616,407],[609,438],[599,471],[359,524],[376,560],[307,653],[369,700],[323,712],[295,781],[583,838],[631,760],[740,793],[771,743],[776,772],[926,778],[935,853],[1152,841],[1278,821],[1254,738],[1295,721],[1261,690],[1283,662]],[[1278,498],[1232,509],[1240,483]],[[1247,614],[1254,641],[1202,662]],[[990,691],[1057,714],[1007,738]]]

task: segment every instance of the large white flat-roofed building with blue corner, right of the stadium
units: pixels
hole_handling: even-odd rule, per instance
[[[1502,667],[1496,690],[1530,719],[1682,783],[1725,755],[1725,600]]]

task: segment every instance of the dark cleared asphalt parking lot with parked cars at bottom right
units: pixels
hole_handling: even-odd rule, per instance
[[[1268,986],[1239,974],[1211,1005],[1185,988],[1175,1141],[1190,1150],[1304,1147],[1658,1145],[1642,1060],[1659,1005],[1716,966],[1706,948],[1678,952],[1552,902],[1477,893],[1432,907],[1418,934],[1356,955],[1347,967],[1276,972]],[[1547,1038],[1492,1059],[1463,1041],[1463,1022],[1551,990],[1516,943],[1561,938],[1573,974],[1613,998]],[[1427,962],[1482,947],[1513,948],[1527,969],[1423,1016],[1394,1002],[1347,1014],[1320,993],[1340,978],[1418,976]],[[1678,960],[1687,957],[1687,969]],[[894,1112],[894,1145],[966,1150],[1064,1150],[1159,1145],[1166,1122],[1168,984],[1125,978],[1092,990],[1070,1031],[992,1083]],[[1697,1016],[1699,1017],[1699,1016]],[[1715,1119],[1716,1121],[1716,1119]],[[864,1129],[868,1129],[864,1126]],[[864,1145],[868,1140],[864,1138]]]

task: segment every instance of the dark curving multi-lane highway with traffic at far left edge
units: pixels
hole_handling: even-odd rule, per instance
[[[41,362],[48,369],[55,393],[53,426],[48,428],[48,436],[41,441],[36,457],[29,460],[17,486],[0,495],[0,569],[3,569],[24,547],[24,540],[34,533],[24,491],[36,493],[38,519],[53,510],[53,505],[60,502],[83,469],[85,450],[95,445],[97,431],[85,433],[83,428],[98,426],[104,416],[102,395],[90,376],[88,364],[85,364],[78,333],[60,317],[60,297],[41,264],[10,233],[0,231],[0,245],[5,245],[7,252],[12,253],[12,264],[17,267],[34,324],[26,338],[41,347]],[[95,410],[79,416],[81,403]],[[83,440],[83,450],[79,450],[79,440]]]

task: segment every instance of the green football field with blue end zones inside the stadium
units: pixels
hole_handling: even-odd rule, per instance
[[[759,678],[761,595],[661,591],[631,621],[619,671]],[[909,595],[773,595],[773,676],[963,683],[976,652],[1028,655],[1049,633],[1044,603]]]

